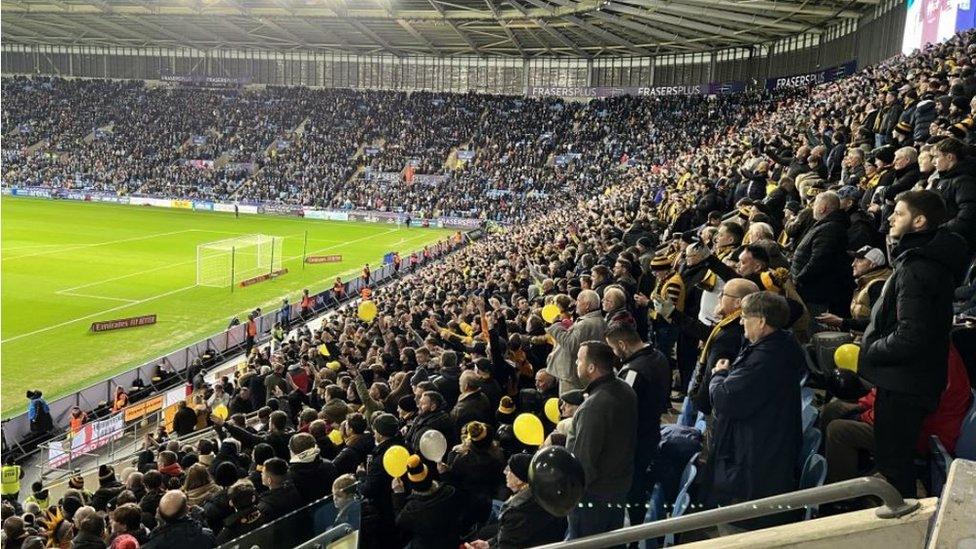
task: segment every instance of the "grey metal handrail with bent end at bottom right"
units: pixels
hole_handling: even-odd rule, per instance
[[[700,530],[719,524],[727,524],[756,517],[776,515],[809,505],[833,503],[863,496],[881,498],[883,504],[875,510],[878,518],[903,517],[919,508],[918,501],[903,499],[901,494],[880,477],[862,477],[826,486],[807,488],[777,496],[737,503],[677,518],[658,520],[637,526],[628,526],[612,532],[587,536],[578,540],[561,541],[537,546],[535,549],[599,549]]]

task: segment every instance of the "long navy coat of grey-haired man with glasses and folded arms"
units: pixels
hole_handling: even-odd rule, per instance
[[[777,330],[745,346],[726,370],[714,372],[709,393],[715,425],[709,475],[712,505],[796,490],[802,442],[800,375],[803,349]]]

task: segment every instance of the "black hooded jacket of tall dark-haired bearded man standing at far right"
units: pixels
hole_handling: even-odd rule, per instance
[[[858,374],[889,391],[937,400],[946,384],[952,294],[968,262],[965,242],[945,228],[910,233],[871,309]]]

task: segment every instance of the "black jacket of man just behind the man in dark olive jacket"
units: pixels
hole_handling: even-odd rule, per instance
[[[648,345],[623,360],[620,379],[637,395],[638,464],[650,462],[661,439],[661,414],[671,407],[671,366],[661,351]]]

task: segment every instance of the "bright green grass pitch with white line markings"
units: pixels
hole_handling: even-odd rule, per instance
[[[24,392],[49,400],[223,330],[232,316],[331,288],[383,254],[453,231],[4,197],[0,201],[0,378],[4,417]],[[342,263],[307,265],[309,254]],[[195,286],[196,246],[246,234],[284,237],[288,274],[247,288]],[[158,315],[153,326],[90,333],[93,321]]]

